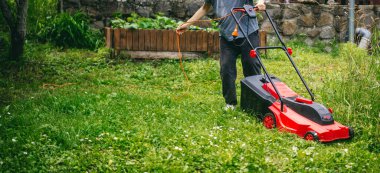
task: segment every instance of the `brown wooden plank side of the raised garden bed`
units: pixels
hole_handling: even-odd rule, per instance
[[[105,28],[106,47],[120,51],[177,52],[174,30],[130,30]],[[260,31],[260,46],[266,45],[266,32]],[[187,31],[180,36],[182,52],[219,52],[219,32]]]

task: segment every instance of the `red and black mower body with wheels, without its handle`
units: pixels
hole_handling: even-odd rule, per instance
[[[264,75],[241,81],[241,108],[255,112],[268,128],[295,133],[306,140],[332,142],[353,137],[353,130],[334,121],[332,110],[302,98],[278,78],[271,76],[282,95],[283,111],[274,87]]]

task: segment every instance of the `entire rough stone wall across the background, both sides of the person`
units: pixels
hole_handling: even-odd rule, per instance
[[[299,0],[300,1],[300,0]],[[285,38],[296,35],[307,37],[306,43],[315,40],[344,41],[347,35],[348,7],[345,5],[319,5],[315,0],[305,3],[271,3],[267,9]],[[89,14],[96,27],[104,27],[103,19],[119,12],[128,15],[136,12],[150,17],[163,13],[186,20],[203,4],[203,0],[64,0],[66,11],[82,10]],[[210,14],[210,17],[213,17]],[[263,15],[261,28],[273,32]],[[356,6],[356,27],[380,28],[380,5]]]

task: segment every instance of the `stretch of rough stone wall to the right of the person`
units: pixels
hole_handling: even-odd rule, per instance
[[[269,4],[267,8],[285,38],[303,35],[307,37],[307,44],[312,44],[316,39],[346,40],[348,7],[345,5],[294,3]],[[380,29],[380,6],[357,6],[355,15],[355,27]],[[268,19],[265,15],[263,17],[261,28],[273,33]]]

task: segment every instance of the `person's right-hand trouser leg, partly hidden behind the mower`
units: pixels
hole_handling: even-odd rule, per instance
[[[248,36],[253,47],[259,46],[259,32],[253,32]],[[252,50],[248,41],[241,46],[241,63],[243,66],[243,74],[245,77],[261,74],[261,66],[257,58],[251,58],[249,52]]]

